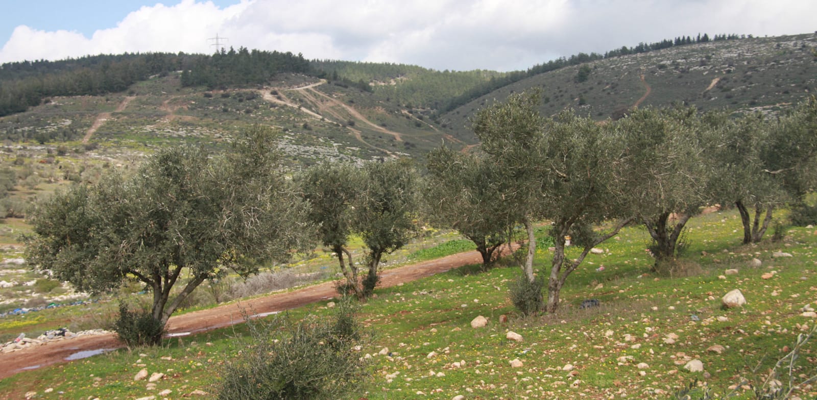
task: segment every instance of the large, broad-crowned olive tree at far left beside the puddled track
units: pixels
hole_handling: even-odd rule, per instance
[[[205,280],[229,269],[255,273],[304,244],[306,207],[276,149],[270,129],[253,127],[231,153],[163,149],[134,176],[58,192],[29,217],[26,256],[83,291],[144,283],[153,294],[150,315],[163,328]],[[145,341],[161,339],[159,330]]]

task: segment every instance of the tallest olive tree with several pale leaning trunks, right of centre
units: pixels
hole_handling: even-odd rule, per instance
[[[506,102],[480,111],[475,132],[484,152],[502,167],[502,179],[513,186],[504,198],[507,207],[520,211],[528,233],[523,269],[531,284],[536,282],[533,221],[547,219],[553,224],[555,250],[546,310],[554,313],[569,274],[592,247],[613,237],[632,217],[628,216],[623,183],[618,180],[626,149],[620,131],[572,112],[541,118],[536,111],[540,96],[538,91],[512,95]],[[594,229],[605,220],[618,221],[606,231]],[[574,232],[579,233],[583,250],[576,259],[567,260],[565,236]]]

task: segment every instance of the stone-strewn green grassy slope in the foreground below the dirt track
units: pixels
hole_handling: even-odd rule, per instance
[[[373,345],[361,352],[374,354],[373,379],[364,396],[666,398],[694,378],[724,390],[742,378],[757,384],[758,376],[784,354],[784,346],[791,346],[798,333],[815,323],[801,317],[800,309],[817,300],[817,235],[814,229],[791,229],[784,243],[739,247],[739,219],[734,212],[702,216],[690,225],[691,245],[685,260],[699,264],[699,273],[686,278],[654,276],[644,251],[645,233],[625,229],[619,240],[603,244],[608,250],[605,255],[592,256],[569,278],[562,308],[554,316],[515,317],[507,300],[507,283],[519,275],[515,266],[487,273],[466,267],[377,291],[361,316],[377,332]],[[771,253],[778,249],[793,257],[773,259]],[[547,264],[547,257],[547,251],[538,251],[538,268]],[[763,266],[749,268],[752,257],[762,260]],[[596,272],[602,264],[605,270]],[[740,272],[719,278],[729,268]],[[776,272],[773,278],[761,278],[770,271]],[[748,304],[742,309],[721,309],[721,296],[734,288],[743,291]],[[578,309],[588,298],[600,300],[601,306]],[[292,315],[326,312],[324,304],[313,304]],[[480,314],[489,318],[489,326],[472,329],[469,322]],[[498,322],[502,314],[511,316],[507,325]],[[717,317],[727,319],[720,322]],[[169,397],[175,398],[194,389],[212,392],[219,366],[242,349],[244,329],[212,331],[168,340],[160,349],[120,350],[26,371],[0,382],[0,393],[8,398],[27,391],[38,392],[39,398],[59,398],[60,391],[72,398],[136,398],[172,389]],[[506,340],[508,330],[525,339]],[[664,341],[671,333],[679,336],[675,344]],[[632,341],[627,341],[627,335]],[[725,346],[725,351],[707,351],[712,344]],[[392,357],[377,355],[382,347]],[[432,351],[437,355],[427,357]],[[806,369],[795,375],[815,374],[815,351],[817,342],[807,344],[801,357]],[[172,360],[161,358],[167,356]],[[509,361],[514,358],[524,367],[511,368]],[[683,370],[689,358],[700,358],[711,377]],[[464,367],[453,367],[453,362],[460,361]],[[647,367],[638,368],[641,362]],[[756,376],[751,369],[757,363]],[[575,376],[562,370],[566,364],[574,366]],[[144,382],[132,380],[142,367],[168,377],[156,389],[145,389]],[[47,388],[54,391],[44,393]],[[810,389],[811,396],[817,394],[814,390]]]

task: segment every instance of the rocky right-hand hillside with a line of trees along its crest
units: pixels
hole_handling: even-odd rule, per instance
[[[494,100],[542,89],[542,113],[576,109],[618,118],[634,106],[694,104],[702,111],[775,113],[817,91],[817,35],[742,38],[670,47],[540,73],[444,113],[454,136],[475,140],[468,118]],[[587,65],[584,78],[580,70]],[[582,81],[583,82],[579,82]]]

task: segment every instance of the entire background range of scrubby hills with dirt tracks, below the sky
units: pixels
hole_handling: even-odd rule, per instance
[[[141,154],[156,146],[183,142],[218,146],[255,123],[279,127],[292,165],[325,159],[422,159],[443,143],[458,149],[475,144],[468,122],[473,113],[531,87],[542,89],[545,115],[574,108],[598,120],[618,118],[636,105],[676,102],[701,110],[775,113],[817,89],[815,34],[735,35],[683,46],[654,45],[659,50],[639,45],[627,50],[629,55],[623,50],[605,56],[579,53],[514,73],[349,61],[312,60],[306,66],[300,55],[246,49],[213,56],[98,56],[99,60],[4,64],[0,69],[4,90],[22,87],[20,82],[34,85],[32,79],[38,77],[43,85],[51,82],[54,91],[67,90],[65,84],[72,77],[87,75],[90,82],[109,82],[106,70],[139,68],[123,78],[136,81],[123,91],[47,96],[25,112],[0,117],[0,132],[5,159],[19,170],[20,187],[40,190],[49,189],[44,184],[63,184],[69,178],[94,180],[106,165],[136,165]],[[243,59],[258,64],[241,64]],[[279,73],[263,70],[263,63],[279,59],[294,66]],[[93,69],[95,65],[102,67]],[[242,68],[248,75],[240,73]],[[306,72],[291,72],[298,70]],[[149,75],[150,71],[158,73]],[[467,101],[502,82],[512,83]],[[467,102],[441,113],[463,101]],[[24,184],[32,172],[42,178],[40,184],[36,180]]]

